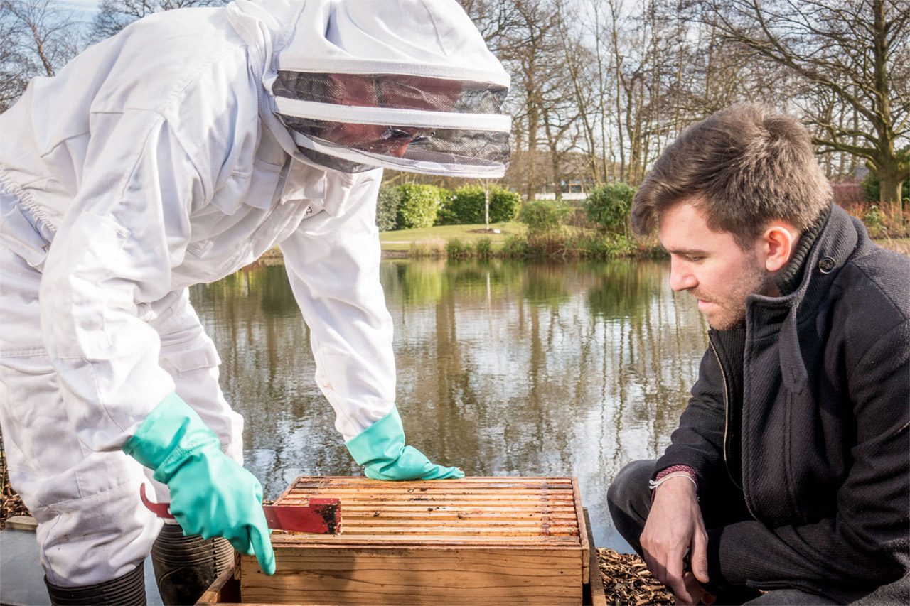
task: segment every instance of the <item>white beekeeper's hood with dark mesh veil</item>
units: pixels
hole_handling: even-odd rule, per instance
[[[505,172],[509,75],[455,0],[306,0],[276,64],[278,116],[322,166]]]

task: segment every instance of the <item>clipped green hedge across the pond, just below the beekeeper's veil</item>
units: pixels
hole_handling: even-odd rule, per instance
[[[430,185],[380,187],[376,207],[379,231],[471,225],[484,222],[484,190],[480,186],[450,191]],[[490,223],[511,221],[518,215],[521,196],[509,189],[490,187]]]

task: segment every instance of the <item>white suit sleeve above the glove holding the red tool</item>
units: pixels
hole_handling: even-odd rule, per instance
[[[86,168],[48,253],[41,326],[66,412],[90,449],[118,449],[169,392],[160,339],[136,301],[170,288],[193,200],[205,197],[161,116],[95,116]]]

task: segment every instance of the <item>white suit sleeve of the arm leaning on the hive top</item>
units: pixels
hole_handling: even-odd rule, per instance
[[[395,402],[392,322],[379,283],[376,197],[381,171],[329,180],[326,208],[281,243],[310,331],[319,389],[351,439]]]

